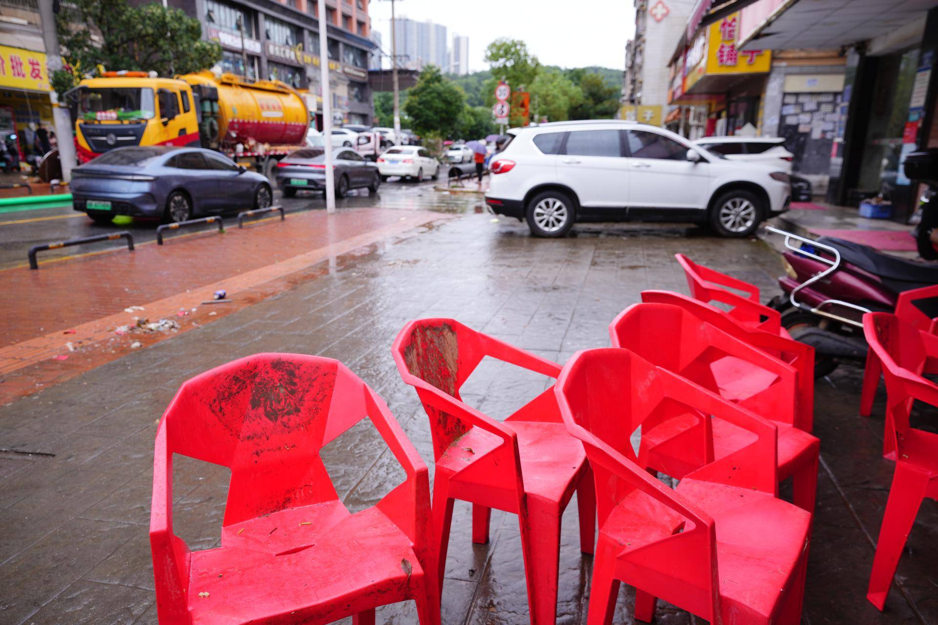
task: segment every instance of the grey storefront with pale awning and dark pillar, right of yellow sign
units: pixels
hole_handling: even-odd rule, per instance
[[[803,145],[805,167],[820,170],[826,160],[828,201],[855,206],[882,195],[893,218],[904,221],[919,188],[904,176],[902,160],[934,134],[938,7],[906,11],[901,21],[858,8],[848,29],[834,8],[804,0],[759,0],[743,12],[751,13],[744,45],[843,58],[842,71],[784,77],[779,134]],[[855,33],[868,38],[857,41]]]

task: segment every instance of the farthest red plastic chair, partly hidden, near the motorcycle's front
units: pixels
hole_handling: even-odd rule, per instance
[[[699,265],[684,254],[674,254],[674,258],[684,268],[690,295],[694,299],[704,304],[719,302],[733,306],[727,314],[742,325],[785,338],[792,337],[781,327],[781,313],[760,303],[759,287]],[[747,296],[743,297],[729,289],[742,290]]]

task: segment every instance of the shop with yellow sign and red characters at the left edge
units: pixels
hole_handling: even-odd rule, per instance
[[[21,162],[55,143],[48,72],[44,53],[0,46],[0,138]]]

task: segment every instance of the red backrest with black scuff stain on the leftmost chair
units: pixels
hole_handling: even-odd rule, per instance
[[[256,354],[182,385],[163,416],[168,451],[231,469],[226,526],[335,500],[319,452],[375,415],[374,401],[338,361]]]

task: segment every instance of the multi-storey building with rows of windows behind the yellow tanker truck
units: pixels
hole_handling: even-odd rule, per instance
[[[369,0],[324,0],[326,62],[334,124],[371,124],[374,106],[368,70],[377,46],[371,39]],[[202,22],[203,37],[222,49],[219,69],[250,80],[286,82],[307,100],[322,128],[320,28],[317,0],[169,0]]]

